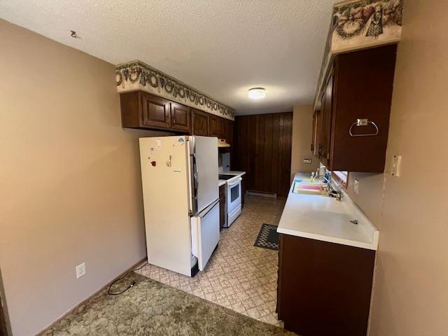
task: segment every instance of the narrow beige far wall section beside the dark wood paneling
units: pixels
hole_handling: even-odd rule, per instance
[[[295,105],[293,110],[293,146],[291,150],[291,179],[297,172],[315,172],[318,159],[311,153],[313,106]],[[310,158],[311,165],[303,163]]]

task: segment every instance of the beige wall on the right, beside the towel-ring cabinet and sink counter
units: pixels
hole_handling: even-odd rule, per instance
[[[448,335],[446,13],[448,1],[405,1],[386,173],[349,181],[360,180],[349,192],[381,229],[370,336]]]

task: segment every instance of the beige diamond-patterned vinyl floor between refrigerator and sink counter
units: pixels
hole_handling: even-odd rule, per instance
[[[283,326],[276,315],[278,251],[255,247],[263,223],[278,225],[284,200],[246,197],[241,216],[221,239],[204,272],[184,276],[154,265],[137,273],[246,316]]]

